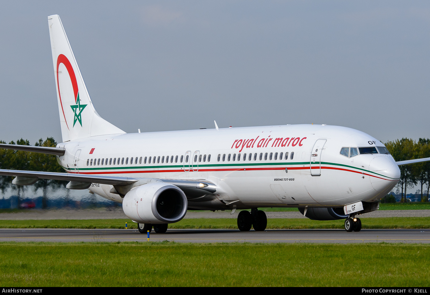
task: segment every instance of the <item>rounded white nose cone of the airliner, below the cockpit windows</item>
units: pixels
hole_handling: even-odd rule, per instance
[[[370,177],[375,191],[388,194],[397,184],[400,178],[400,169],[392,157],[377,156],[369,164],[369,170],[375,172],[375,176]]]

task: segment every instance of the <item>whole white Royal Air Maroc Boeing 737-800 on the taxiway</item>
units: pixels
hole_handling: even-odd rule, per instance
[[[14,184],[39,178],[70,181],[123,204],[141,233],[163,233],[187,209],[241,211],[240,230],[264,230],[261,207],[293,207],[314,220],[345,219],[379,208],[400,178],[399,165],[377,139],[341,126],[281,125],[126,133],[92,104],[58,15],[48,17],[60,114],[57,147],[0,147],[57,156],[67,173],[0,170]]]

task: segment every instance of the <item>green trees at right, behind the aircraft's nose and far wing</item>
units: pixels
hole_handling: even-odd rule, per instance
[[[430,157],[430,138],[420,138],[418,141],[410,138],[396,139],[385,143],[388,151],[396,161],[421,159]],[[430,186],[430,162],[417,163],[412,165],[399,166],[400,181],[397,184],[401,188],[401,200],[406,201],[406,191],[408,188],[421,186],[421,202],[429,200]],[[423,187],[427,191],[423,193]]]

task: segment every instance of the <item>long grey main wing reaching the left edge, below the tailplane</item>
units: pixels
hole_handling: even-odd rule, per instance
[[[6,169],[0,169],[0,175],[77,181],[77,182],[86,182],[86,183],[111,184],[111,185],[119,185],[119,186],[132,184],[138,181],[137,178],[132,178],[132,177],[88,175],[88,174],[74,174],[74,173],[61,173],[61,172],[6,170]]]

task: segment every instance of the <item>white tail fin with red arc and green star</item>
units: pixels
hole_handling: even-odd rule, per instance
[[[48,24],[63,142],[126,133],[95,111],[60,17],[48,16]]]

